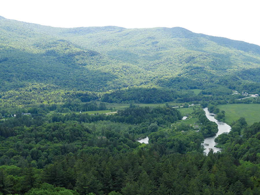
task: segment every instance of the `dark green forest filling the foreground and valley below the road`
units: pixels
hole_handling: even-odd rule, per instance
[[[201,132],[172,127],[181,114],[170,107],[2,120],[0,192],[260,194],[260,123],[234,122],[222,139],[226,150],[206,156],[201,143],[216,127],[202,109],[192,115],[202,123]],[[149,144],[136,141],[146,135]]]

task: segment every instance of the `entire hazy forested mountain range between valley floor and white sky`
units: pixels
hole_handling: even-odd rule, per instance
[[[55,28],[0,17],[0,51],[1,90],[28,82],[91,91],[205,88],[227,76],[260,82],[260,46],[181,27]]]

